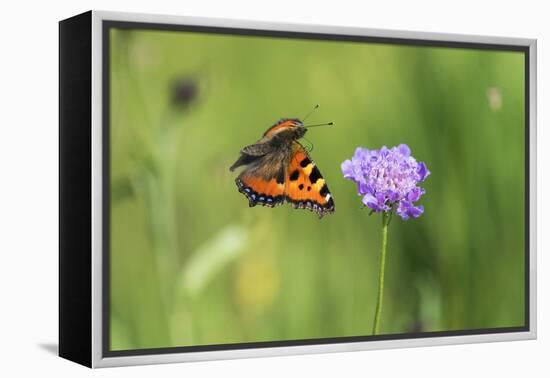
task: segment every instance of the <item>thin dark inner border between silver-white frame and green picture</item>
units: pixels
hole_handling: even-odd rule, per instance
[[[297,31],[281,31],[281,30],[265,30],[265,29],[245,29],[232,27],[218,26],[197,26],[197,25],[181,25],[169,23],[149,23],[138,21],[116,21],[103,20],[101,23],[102,34],[102,162],[103,162],[103,188],[102,188],[102,357],[126,357],[126,356],[144,356],[156,354],[172,354],[172,353],[191,353],[191,352],[210,352],[224,350],[244,350],[244,349],[259,349],[259,348],[277,348],[277,347],[293,347],[307,345],[329,345],[340,343],[354,343],[366,341],[382,341],[382,340],[406,340],[431,337],[448,337],[448,336],[471,336],[484,334],[498,333],[514,333],[514,332],[529,332],[530,331],[530,63],[531,54],[529,46],[509,45],[499,43],[483,43],[483,42],[458,42],[458,41],[441,41],[437,39],[418,39],[418,38],[395,38],[395,37],[372,37],[360,35],[345,35],[345,34],[327,34],[315,32],[297,32]],[[524,238],[525,238],[525,261],[524,261],[524,321],[523,326],[517,327],[498,327],[498,328],[480,328],[471,330],[449,330],[436,332],[416,332],[416,333],[399,333],[387,335],[369,335],[369,336],[345,336],[333,338],[317,338],[317,339],[298,339],[284,341],[258,341],[245,343],[231,344],[209,344],[209,345],[193,345],[165,348],[145,348],[145,349],[129,349],[129,350],[110,350],[110,38],[109,31],[113,28],[117,29],[138,29],[138,30],[153,30],[153,31],[171,31],[171,32],[193,32],[218,35],[233,35],[233,36],[254,36],[268,38],[291,38],[291,39],[306,39],[306,40],[322,40],[322,41],[346,41],[346,42],[362,42],[376,44],[391,44],[405,45],[415,47],[443,47],[443,48],[463,48],[475,50],[491,50],[491,51],[516,51],[524,54],[525,63],[525,78],[524,78],[524,113],[525,113],[525,187],[524,187]]]

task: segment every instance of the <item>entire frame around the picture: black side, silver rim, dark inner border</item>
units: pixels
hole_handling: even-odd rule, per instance
[[[514,327],[110,349],[110,69],[113,28],[514,51],[524,56],[524,324]],[[88,367],[536,338],[536,40],[89,11],[59,23],[59,355]],[[240,146],[237,146],[240,147]],[[237,149],[238,151],[238,149]]]

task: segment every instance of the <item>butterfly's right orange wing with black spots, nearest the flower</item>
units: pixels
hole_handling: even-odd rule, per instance
[[[297,142],[292,145],[284,194],[294,208],[315,211],[320,218],[334,212],[334,199],[325,179],[304,147]]]

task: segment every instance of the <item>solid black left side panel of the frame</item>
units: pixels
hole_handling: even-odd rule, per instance
[[[59,356],[92,366],[92,12],[59,21]]]

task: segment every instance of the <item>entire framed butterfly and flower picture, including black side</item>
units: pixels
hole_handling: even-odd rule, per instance
[[[62,357],[536,337],[535,40],[59,27]]]

